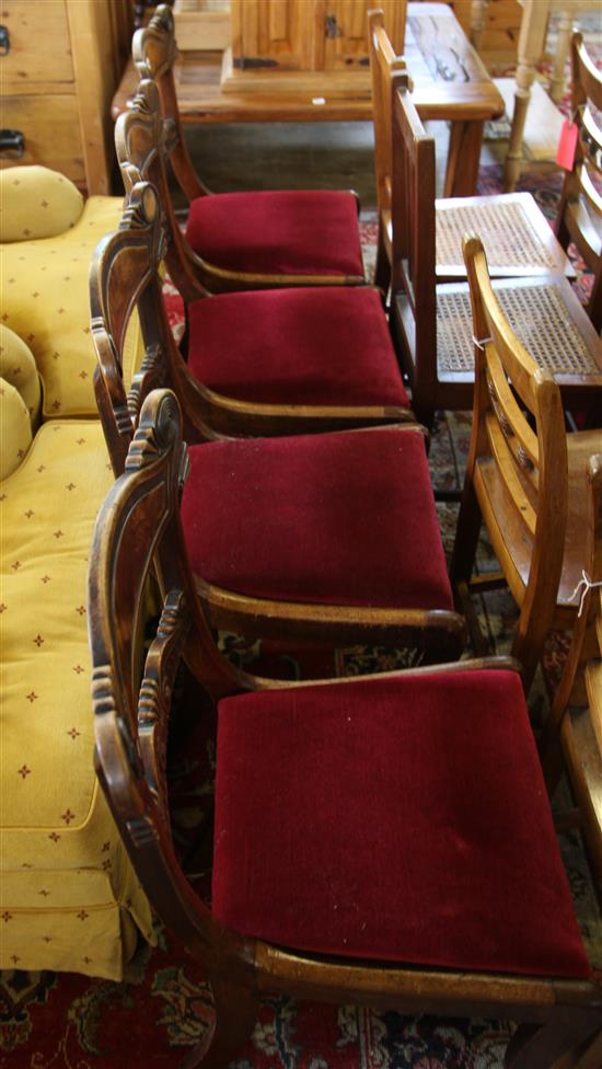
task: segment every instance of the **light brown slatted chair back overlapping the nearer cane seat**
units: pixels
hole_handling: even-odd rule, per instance
[[[477,340],[471,448],[484,473],[487,465],[495,465],[505,490],[503,501],[487,517],[487,528],[498,555],[503,553],[507,525],[522,529],[530,556],[525,601],[545,598],[542,614],[545,609],[551,616],[563,566],[568,502],[560,391],[511,330],[474,234],[464,239],[464,257]]]

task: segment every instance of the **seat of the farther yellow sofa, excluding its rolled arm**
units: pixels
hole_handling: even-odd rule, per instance
[[[90,197],[74,227],[54,238],[0,246],[2,321],[30,346],[44,388],[43,417],[96,416],[88,274],[92,254],[121,218],[120,197]],[[124,353],[129,387],[141,363],[138,317]]]

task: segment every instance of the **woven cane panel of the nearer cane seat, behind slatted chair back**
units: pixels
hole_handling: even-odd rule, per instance
[[[540,367],[551,373],[592,375],[599,368],[569,318],[559,287],[549,283],[495,289],[508,321]],[[437,295],[437,366],[472,371],[473,318],[468,292]]]

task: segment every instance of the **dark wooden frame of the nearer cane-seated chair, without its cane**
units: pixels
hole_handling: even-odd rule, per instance
[[[391,324],[397,352],[406,371],[418,419],[432,424],[438,409],[472,405],[474,375],[468,370],[439,372],[437,318],[439,301],[462,301],[467,285],[437,285],[435,140],[428,135],[413,104],[407,74],[395,74],[393,94],[393,198],[392,198],[392,306]],[[581,373],[560,367],[557,371],[567,405],[578,404],[599,415],[602,399],[602,348],[593,325],[566,278],[542,274],[537,278],[496,279],[494,288],[530,290],[551,284],[578,327],[598,370]],[[444,325],[444,324],[443,324]],[[462,331],[459,329],[459,334]],[[456,343],[459,344],[459,343]]]

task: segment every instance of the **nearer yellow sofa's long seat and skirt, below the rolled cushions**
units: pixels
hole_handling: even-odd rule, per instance
[[[152,939],[93,768],[88,553],[112,481],[100,423],[56,419],[0,486],[0,968],[120,979],[136,927]]]

